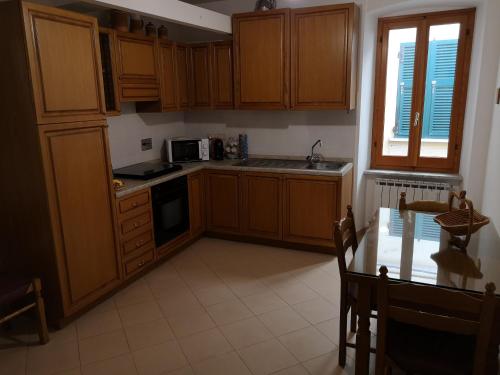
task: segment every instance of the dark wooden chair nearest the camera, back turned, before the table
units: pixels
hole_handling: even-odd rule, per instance
[[[407,374],[487,374],[494,291],[492,283],[482,297],[433,286],[391,284],[387,268],[380,267],[375,374],[390,374],[394,366]]]

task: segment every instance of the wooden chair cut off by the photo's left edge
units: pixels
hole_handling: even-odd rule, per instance
[[[34,309],[38,318],[38,337],[40,344],[43,345],[49,341],[49,333],[41,290],[40,279],[0,274],[0,307],[2,307],[2,311],[3,308],[8,311],[6,315],[0,315],[0,324]]]

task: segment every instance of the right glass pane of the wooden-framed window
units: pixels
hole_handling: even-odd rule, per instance
[[[447,158],[460,24],[429,28],[420,156]]]

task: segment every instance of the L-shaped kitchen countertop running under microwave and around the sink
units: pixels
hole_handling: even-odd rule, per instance
[[[135,193],[139,190],[149,188],[161,184],[162,182],[173,180],[174,178],[185,176],[187,174],[197,172],[202,169],[220,169],[228,171],[245,171],[245,172],[267,172],[267,173],[288,173],[288,174],[300,174],[300,175],[313,175],[313,176],[330,176],[330,177],[342,177],[345,176],[351,169],[352,163],[348,162],[341,170],[310,170],[310,169],[291,169],[291,168],[255,168],[255,167],[243,167],[236,166],[241,160],[210,160],[203,162],[194,163],[180,163],[182,165],[182,170],[174,173],[169,173],[164,176],[152,178],[150,180],[133,180],[127,178],[121,178],[125,187],[121,190],[116,191],[116,197],[121,198],[128,194]]]

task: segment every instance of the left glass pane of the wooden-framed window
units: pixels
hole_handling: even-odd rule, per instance
[[[417,28],[389,31],[384,156],[408,156]]]

